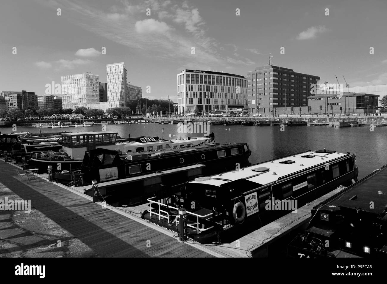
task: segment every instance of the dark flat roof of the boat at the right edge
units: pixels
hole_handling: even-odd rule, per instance
[[[379,172],[373,173],[364,180],[360,180],[351,186],[351,189],[345,190],[338,194],[336,198],[330,199],[321,209],[332,209],[340,207],[354,210],[362,210],[374,214],[382,214],[386,209],[387,190],[385,184],[387,182],[387,165],[382,167]],[[381,190],[382,192],[378,193]],[[370,202],[373,206],[370,206]],[[372,208],[370,208],[372,207]],[[387,214],[381,216],[387,219]]]

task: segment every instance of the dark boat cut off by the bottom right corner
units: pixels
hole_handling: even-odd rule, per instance
[[[387,257],[387,165],[312,209],[289,257]],[[329,243],[329,246],[325,245]]]

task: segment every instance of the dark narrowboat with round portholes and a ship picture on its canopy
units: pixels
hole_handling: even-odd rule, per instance
[[[91,183],[93,179],[98,182],[125,179],[200,163],[206,166],[202,174],[210,175],[234,169],[236,163],[241,167],[248,166],[250,155],[251,151],[246,143],[204,145],[127,155],[98,148],[86,151],[81,172],[84,173],[84,181]]]

